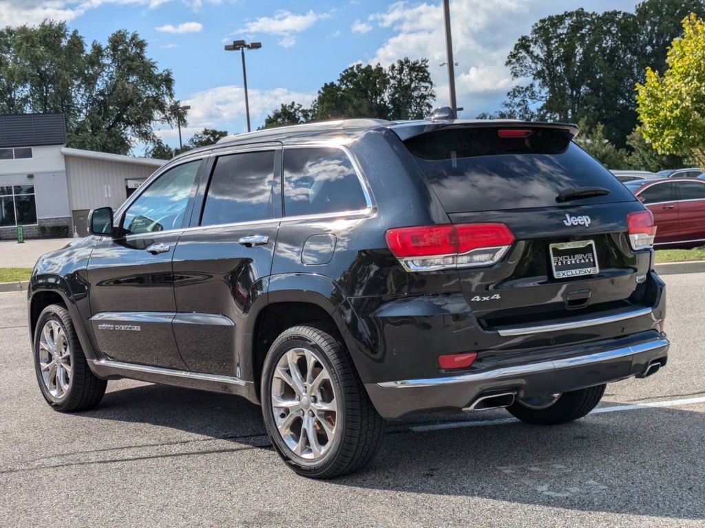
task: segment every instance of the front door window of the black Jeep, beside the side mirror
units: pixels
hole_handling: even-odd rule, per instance
[[[178,229],[196,181],[201,160],[178,165],[160,175],[125,213],[125,234]]]

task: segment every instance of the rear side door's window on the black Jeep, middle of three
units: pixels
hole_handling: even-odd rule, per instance
[[[243,152],[216,160],[201,225],[269,220],[274,216],[275,151]]]

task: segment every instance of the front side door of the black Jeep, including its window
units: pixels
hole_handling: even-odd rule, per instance
[[[109,359],[186,368],[171,329],[171,259],[200,165],[190,161],[159,175],[121,215],[121,236],[104,237],[91,254],[91,323],[99,351]]]

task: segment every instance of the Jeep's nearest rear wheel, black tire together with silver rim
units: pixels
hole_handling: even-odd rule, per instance
[[[379,448],[384,420],[348,351],[324,329],[297,326],[274,341],[261,394],[269,438],[300,475],[326,479],[360,470]]]

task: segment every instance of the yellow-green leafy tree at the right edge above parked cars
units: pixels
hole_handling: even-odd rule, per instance
[[[683,29],[663,75],[646,68],[644,84],[637,84],[639,130],[658,153],[692,153],[705,167],[705,21],[693,13]]]

